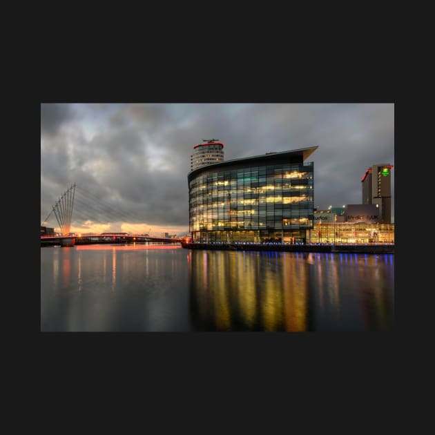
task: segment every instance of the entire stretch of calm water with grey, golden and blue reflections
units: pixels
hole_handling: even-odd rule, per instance
[[[41,331],[391,331],[394,255],[41,248]]]

